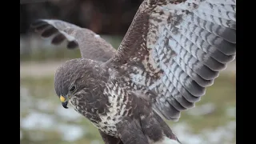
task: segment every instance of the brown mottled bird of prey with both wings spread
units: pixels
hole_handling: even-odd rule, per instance
[[[91,30],[60,20],[31,25],[82,58],[58,67],[54,88],[106,143],[178,144],[178,121],[236,54],[235,0],[145,0],[118,50]]]

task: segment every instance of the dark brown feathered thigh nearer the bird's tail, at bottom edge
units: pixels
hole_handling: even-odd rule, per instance
[[[150,144],[140,124],[130,118],[123,118],[117,124],[118,135],[124,144]]]

